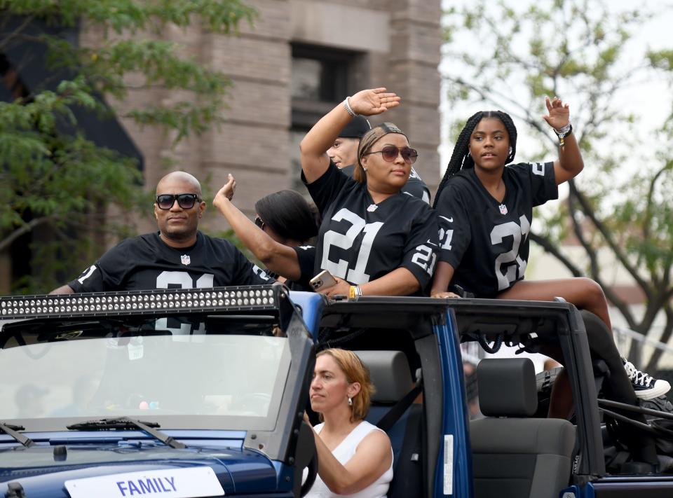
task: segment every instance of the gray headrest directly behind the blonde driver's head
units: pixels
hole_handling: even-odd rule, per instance
[[[354,351],[369,368],[373,403],[396,403],[414,387],[409,361],[401,351]]]

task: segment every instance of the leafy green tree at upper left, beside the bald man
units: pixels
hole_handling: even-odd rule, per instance
[[[0,102],[0,252],[34,233],[32,275],[15,290],[52,289],[60,270],[71,275],[100,254],[104,233],[126,233],[149,212],[134,160],[97,146],[77,116],[109,119],[109,103],[147,89],[163,98],[123,106],[121,117],[163,128],[174,145],[205,132],[222,120],[230,81],[164,34],[232,34],[255,17],[241,0],[0,0],[0,57],[14,95]],[[73,43],[77,32],[86,43]],[[33,52],[18,61],[21,46]],[[30,85],[22,71],[36,53],[48,74]]]

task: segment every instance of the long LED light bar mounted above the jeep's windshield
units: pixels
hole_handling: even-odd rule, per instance
[[[155,289],[0,297],[0,319],[278,310],[283,286]]]

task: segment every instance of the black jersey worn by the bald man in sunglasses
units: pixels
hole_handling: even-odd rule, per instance
[[[102,292],[272,282],[228,240],[198,232],[196,244],[176,249],[155,232],[123,240],[68,285],[75,292]]]

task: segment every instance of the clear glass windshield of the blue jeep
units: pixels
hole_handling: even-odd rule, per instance
[[[0,332],[0,420],[29,431],[133,417],[271,430],[290,370],[277,317],[185,313],[28,319]]]

